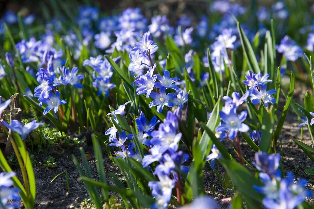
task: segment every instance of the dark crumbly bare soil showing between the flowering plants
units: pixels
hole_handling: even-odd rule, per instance
[[[302,104],[302,97],[304,96],[306,88],[304,86],[298,86],[295,90],[295,101]],[[284,104],[284,98],[281,98],[280,103]],[[283,106],[283,105],[281,105]],[[283,108],[283,107],[281,107]],[[279,112],[281,110],[279,109]],[[296,180],[299,178],[309,179],[311,176],[305,174],[304,169],[314,166],[314,163],[303,153],[303,151],[291,140],[298,139],[302,142],[312,146],[310,135],[307,131],[307,128],[304,128],[303,137],[300,136],[300,128],[298,127],[300,121],[297,120],[297,116],[292,109],[289,111],[289,115],[284,123],[282,133],[280,134],[279,140],[282,141],[282,162],[285,172],[291,171],[295,174]],[[278,141],[279,141],[278,140]],[[279,143],[278,143],[279,145]],[[82,144],[85,152],[90,153],[91,158],[89,159],[89,166],[91,173],[95,180],[98,180],[98,174],[96,169],[95,158],[93,158],[93,147],[91,144],[86,145]],[[228,142],[225,143],[225,146],[229,146],[230,153],[236,158],[236,154],[232,151]],[[276,147],[276,150],[280,152],[280,145]],[[241,143],[241,150],[249,163],[254,161],[254,152],[252,149],[244,142]],[[72,155],[78,158],[80,161],[79,148],[69,148],[62,146],[51,146],[46,153],[41,151],[39,154],[34,154],[35,165],[34,173],[36,179],[36,202],[35,208],[85,208],[86,205],[81,205],[84,199],[89,198],[87,191],[82,182],[79,182],[77,179],[79,177],[78,170],[76,169]],[[87,154],[89,155],[89,154]],[[55,158],[57,162],[55,168],[45,168],[43,162],[47,160],[49,156]],[[115,173],[120,179],[122,179],[122,174],[119,172],[119,169],[113,165],[109,159],[107,153],[104,153],[103,158],[104,166],[106,167],[106,173]],[[83,167],[82,163],[81,166]],[[17,169],[17,168],[16,168]],[[225,172],[222,166],[219,163],[216,163],[216,169],[221,174],[223,179],[225,178]],[[68,191],[65,174],[58,176],[52,183],[50,181],[57,175],[63,172],[64,170],[68,173],[68,181],[70,191]],[[21,179],[21,173],[19,170],[16,170],[18,177]],[[313,177],[312,177],[313,178]],[[227,203],[222,203],[222,207],[228,206],[228,198],[233,196],[233,190],[230,185],[230,189],[224,190],[224,186],[219,181],[219,178],[207,164],[203,170],[203,181],[205,191],[212,194],[212,188],[214,186],[214,196],[218,201],[222,199],[226,200]],[[110,182],[109,182],[110,183]],[[308,188],[314,191],[314,184],[309,183]],[[308,201],[312,201],[311,199]]]

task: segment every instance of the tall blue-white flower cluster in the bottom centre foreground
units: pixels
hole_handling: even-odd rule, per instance
[[[181,117],[181,115],[180,115]],[[182,166],[189,156],[182,151],[178,151],[178,142],[182,134],[179,132],[179,123],[177,115],[168,111],[167,117],[159,125],[157,131],[151,132],[149,155],[143,158],[143,167],[151,163],[158,162],[154,174],[158,176],[159,181],[150,181],[149,187],[152,189],[152,195],[156,198],[153,208],[167,208],[170,202],[172,189],[175,185],[181,183],[180,169],[187,173],[188,168]]]

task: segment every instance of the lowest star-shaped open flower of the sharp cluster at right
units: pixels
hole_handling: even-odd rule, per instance
[[[268,103],[276,103],[276,99],[271,97],[271,95],[275,94],[277,91],[275,89],[266,91],[266,88],[266,84],[261,86],[260,91],[258,91],[257,88],[253,88],[251,100],[254,105],[261,103],[261,99],[263,100],[265,107],[268,106]]]

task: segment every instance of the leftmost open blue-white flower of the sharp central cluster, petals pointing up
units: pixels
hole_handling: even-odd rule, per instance
[[[149,67],[148,71],[146,72],[145,75],[142,75],[140,77],[138,77],[138,79],[136,79],[134,82],[136,83],[136,85],[138,86],[136,88],[136,93],[138,95],[140,94],[146,94],[146,98],[149,98],[149,95],[151,94],[154,86],[155,86],[155,82],[157,79],[157,75],[153,75],[154,70],[156,69],[156,64],[154,64],[153,67]],[[155,93],[157,94],[157,93]]]

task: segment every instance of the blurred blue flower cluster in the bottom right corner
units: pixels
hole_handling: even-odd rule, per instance
[[[287,177],[281,178],[281,172],[278,170],[279,160],[279,154],[255,153],[254,165],[260,171],[259,177],[263,181],[263,186],[253,187],[265,195],[262,201],[265,208],[295,208],[306,197],[311,197],[312,192],[304,188],[307,180],[300,179],[295,183],[290,172]]]

